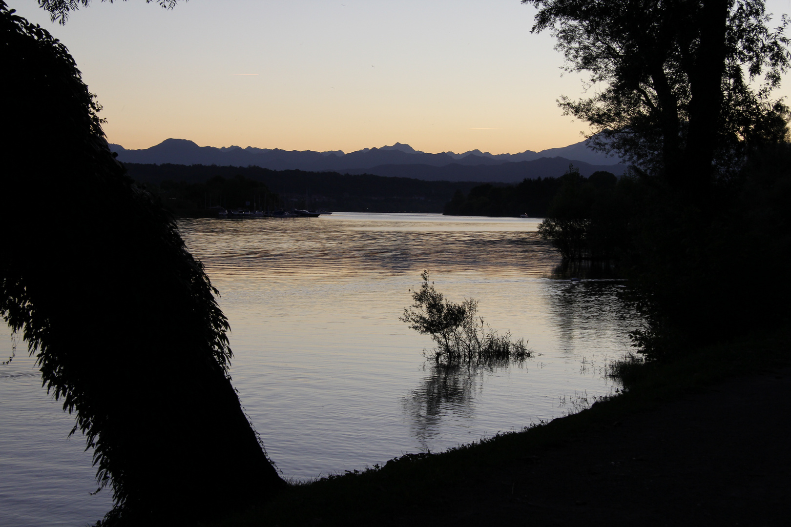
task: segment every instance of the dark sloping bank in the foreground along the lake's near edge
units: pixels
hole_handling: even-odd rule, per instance
[[[222,525],[782,525],[788,336],[633,368],[573,416],[297,485]]]

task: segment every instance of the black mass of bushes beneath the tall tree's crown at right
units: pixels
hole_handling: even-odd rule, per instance
[[[791,145],[752,152],[740,174],[715,182],[701,203],[647,177],[630,194],[621,266],[645,318],[635,342],[649,357],[789,322],[789,284],[771,269],[791,249]]]

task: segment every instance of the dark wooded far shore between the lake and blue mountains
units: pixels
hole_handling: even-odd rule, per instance
[[[218,206],[229,210],[298,208],[336,212],[444,213],[447,216],[520,216],[527,213],[531,217],[543,217],[550,210],[552,200],[564,181],[562,178],[524,179],[514,186],[384,178],[366,174],[340,175],[335,172],[272,171],[258,167],[126,166],[138,181],[157,182],[143,184],[168,209],[182,217],[216,216]],[[151,177],[153,171],[161,177],[182,179]],[[201,181],[206,174],[214,175]],[[596,172],[587,180],[599,181],[601,178],[616,180],[610,172]],[[284,191],[272,192],[270,186],[263,183],[264,179],[273,186],[281,186]],[[304,193],[295,191],[302,188]],[[448,194],[452,192],[448,201]]]

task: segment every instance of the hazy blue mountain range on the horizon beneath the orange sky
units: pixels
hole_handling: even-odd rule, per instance
[[[479,181],[517,183],[522,179],[558,177],[570,164],[581,175],[610,171],[623,175],[626,165],[617,157],[608,157],[589,149],[581,141],[558,149],[540,152],[526,150],[517,154],[491,154],[480,150],[464,153],[428,153],[410,145],[395,143],[381,148],[345,153],[340,150],[257,149],[230,146],[199,146],[186,139],[166,139],[149,149],[124,149],[110,145],[118,160],[138,164],[202,164],[218,166],[256,166],[271,170],[335,171],[341,174],[373,174],[407,177],[429,181]]]

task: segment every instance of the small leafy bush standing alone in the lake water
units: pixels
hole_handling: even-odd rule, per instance
[[[410,329],[430,335],[437,348],[431,358],[436,363],[473,365],[527,359],[531,352],[524,339],[511,341],[511,334],[498,335],[483,318],[475,317],[478,301],[464,299],[452,303],[429,284],[429,272],[420,274],[423,283],[412,292],[414,304],[399,317]]]

